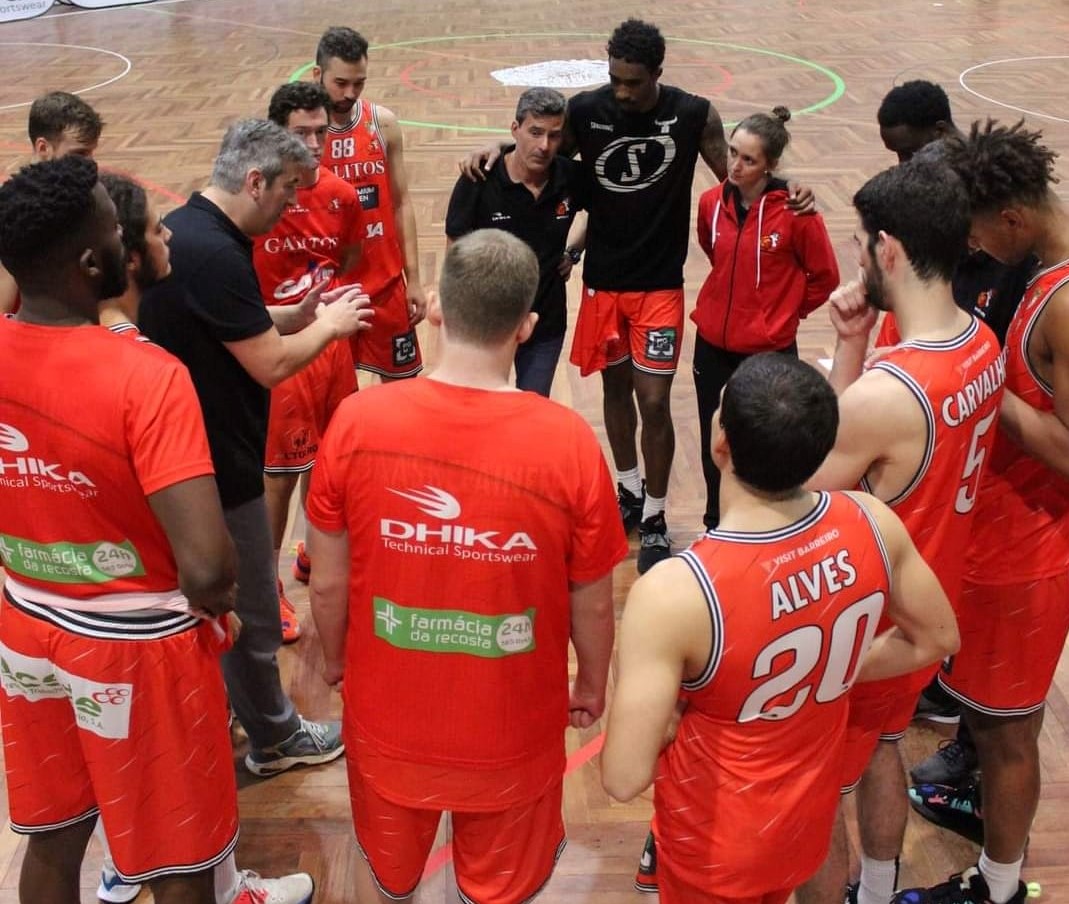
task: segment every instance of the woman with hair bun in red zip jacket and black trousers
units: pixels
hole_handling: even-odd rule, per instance
[[[773,172],[790,141],[786,107],[747,116],[728,142],[728,178],[701,196],[698,244],[712,270],[691,318],[698,326],[694,386],[706,476],[706,527],[719,521],[721,476],[710,453],[721,390],[758,352],[797,355],[799,321],[839,284],[839,268],[819,214],[787,206],[787,183]]]

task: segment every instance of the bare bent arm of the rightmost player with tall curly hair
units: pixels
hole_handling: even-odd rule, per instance
[[[1069,291],[1059,290],[1047,302],[1028,355],[1053,390],[1054,410],[1040,411],[1007,391],[998,423],[1025,452],[1069,480]]]

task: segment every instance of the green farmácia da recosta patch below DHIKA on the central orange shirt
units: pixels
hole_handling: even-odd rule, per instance
[[[463,609],[419,609],[374,598],[375,636],[401,650],[467,653],[499,659],[534,649],[534,609],[480,615]]]

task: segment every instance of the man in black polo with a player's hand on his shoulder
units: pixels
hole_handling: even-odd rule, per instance
[[[456,180],[446,235],[450,240],[477,229],[500,229],[526,241],[538,255],[539,283],[532,308],[539,315],[531,338],[516,349],[516,386],[549,394],[568,326],[566,283],[579,262],[586,230],[569,244],[577,211],[586,207],[579,166],[558,157],[567,102],[548,88],[520,96],[512,123],[515,145],[498,157],[484,180]]]

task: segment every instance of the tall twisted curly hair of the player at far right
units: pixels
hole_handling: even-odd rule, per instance
[[[1013,203],[1045,203],[1054,175],[1057,152],[1043,144],[1041,131],[988,120],[973,123],[969,137],[945,139],[944,160],[961,178],[976,214],[990,214]]]

